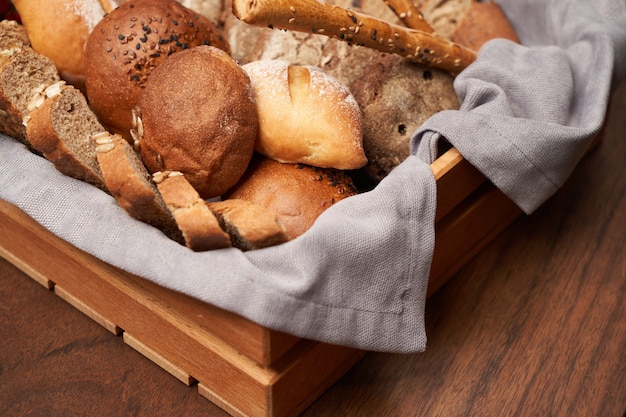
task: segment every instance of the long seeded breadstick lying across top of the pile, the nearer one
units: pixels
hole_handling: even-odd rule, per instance
[[[251,25],[322,34],[395,53],[452,74],[461,72],[476,59],[471,49],[434,34],[317,0],[233,0],[233,14]]]

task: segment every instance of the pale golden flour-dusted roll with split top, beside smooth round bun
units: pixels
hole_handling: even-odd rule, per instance
[[[339,80],[318,67],[282,60],[254,61],[243,69],[259,113],[259,153],[322,168],[367,163],[361,110]]]

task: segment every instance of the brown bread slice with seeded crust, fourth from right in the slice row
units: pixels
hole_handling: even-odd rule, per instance
[[[104,131],[85,96],[64,81],[40,93],[26,128],[32,146],[65,175],[107,191],[92,135]]]

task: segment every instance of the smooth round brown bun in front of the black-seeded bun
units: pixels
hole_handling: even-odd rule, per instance
[[[136,115],[133,136],[148,171],[180,171],[202,198],[235,185],[252,158],[258,116],[250,78],[212,46],[155,68]]]

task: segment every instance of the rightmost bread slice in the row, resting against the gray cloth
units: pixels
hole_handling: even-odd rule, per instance
[[[262,249],[289,240],[278,216],[258,204],[240,199],[207,202],[220,226],[242,251]]]

